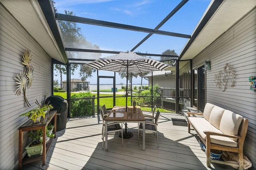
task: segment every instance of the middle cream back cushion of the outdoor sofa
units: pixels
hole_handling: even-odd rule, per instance
[[[212,108],[211,114],[210,114],[210,119],[209,122],[214,125],[217,129],[220,129],[220,119],[222,117],[222,114],[225,109],[219,107],[219,106],[214,106]]]

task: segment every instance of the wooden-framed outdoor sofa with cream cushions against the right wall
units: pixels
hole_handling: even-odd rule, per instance
[[[206,103],[204,113],[187,112],[188,133],[190,125],[194,128],[204,145],[206,145],[206,163],[211,162],[238,167],[243,170],[243,147],[248,128],[248,119],[230,110]],[[194,117],[192,115],[202,115]],[[211,160],[210,150],[224,150],[238,153],[238,163]]]

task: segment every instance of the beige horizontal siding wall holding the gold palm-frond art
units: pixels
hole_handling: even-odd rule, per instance
[[[18,127],[27,117],[19,117],[37,105],[43,95],[51,95],[51,58],[26,30],[0,5],[0,169],[13,169],[18,163]],[[24,106],[23,93],[16,95],[16,73],[24,70],[21,63],[26,49],[32,53],[34,78],[27,98],[31,107]],[[28,143],[24,133],[24,145]],[[24,146],[26,147],[26,146]]]

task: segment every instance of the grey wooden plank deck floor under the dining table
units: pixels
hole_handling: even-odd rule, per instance
[[[233,170],[231,166],[212,164],[206,166],[206,154],[200,149],[194,131],[188,133],[184,116],[175,113],[161,113],[156,137],[146,134],[146,150],[142,150],[142,135],[138,146],[137,123],[129,123],[130,139],[110,134],[108,151],[102,150],[102,121],[97,115],[70,119],[66,129],[57,132],[46,157],[46,167],[42,161],[24,164],[23,169],[49,170]]]

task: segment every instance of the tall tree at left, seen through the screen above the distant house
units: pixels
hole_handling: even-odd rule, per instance
[[[76,16],[74,12],[65,10],[66,15]],[[75,22],[70,21],[58,21],[60,25],[60,31],[62,33],[62,38],[64,41],[64,46],[69,48],[80,48],[80,49],[97,49],[100,48],[98,45],[92,45],[91,42],[86,40],[86,37],[82,34],[81,28]],[[67,51],[69,58],[83,58],[84,52]],[[101,53],[90,53],[90,57],[95,59],[100,58]],[[74,71],[80,68],[81,80],[86,80],[86,78],[92,76],[92,72],[96,72],[95,69],[84,66],[83,64],[71,64],[71,74],[74,75]],[[66,65],[54,64],[54,70],[60,74],[60,85],[62,87],[62,76],[66,75]],[[56,74],[56,76],[58,75]]]

